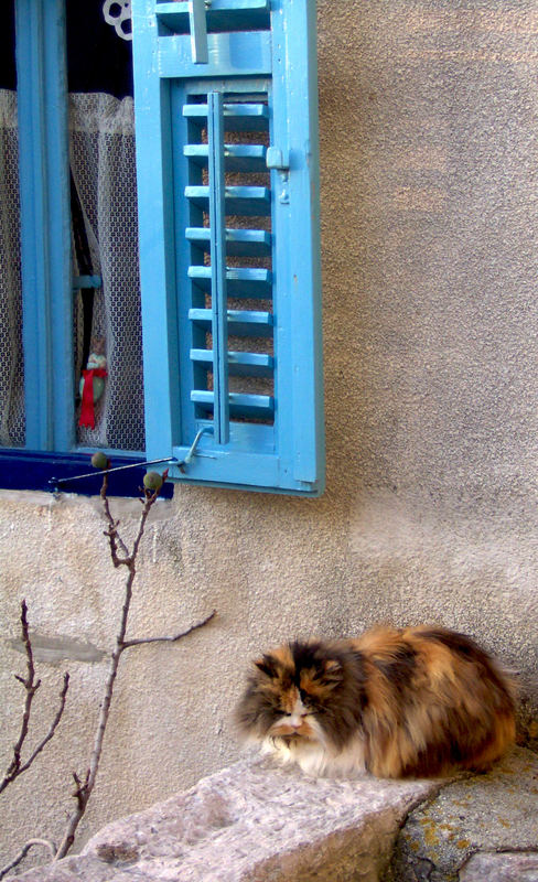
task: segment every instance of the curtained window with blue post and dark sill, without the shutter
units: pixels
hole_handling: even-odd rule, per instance
[[[96,476],[64,483],[93,471],[90,451],[144,459],[131,50],[103,0],[11,0],[3,15],[1,486],[95,493]],[[92,428],[79,379],[99,344]],[[143,472],[118,472],[111,492],[137,493]]]

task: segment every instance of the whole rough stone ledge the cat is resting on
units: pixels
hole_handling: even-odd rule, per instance
[[[252,759],[17,880],[538,882],[536,850],[538,756],[529,750],[456,781],[314,779]]]

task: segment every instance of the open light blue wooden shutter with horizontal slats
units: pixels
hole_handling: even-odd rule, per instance
[[[313,0],[133,0],[147,454],[323,490]]]

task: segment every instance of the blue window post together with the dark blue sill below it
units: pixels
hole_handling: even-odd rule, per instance
[[[75,443],[73,278],[65,0],[15,0],[21,202],[24,448],[0,448],[0,487],[98,494],[88,448]],[[94,280],[95,281],[95,280]],[[93,283],[93,280],[89,280]],[[141,451],[106,449],[110,493],[137,496]],[[164,485],[170,497],[173,487]]]

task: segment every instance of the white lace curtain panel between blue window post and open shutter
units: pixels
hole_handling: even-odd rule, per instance
[[[143,377],[138,272],[132,98],[69,96],[71,165],[85,214],[96,291],[92,336],[104,347],[107,378],[95,429],[77,426],[78,443],[143,450]],[[75,295],[75,363],[82,357],[80,297]],[[77,380],[78,381],[78,380]]]

